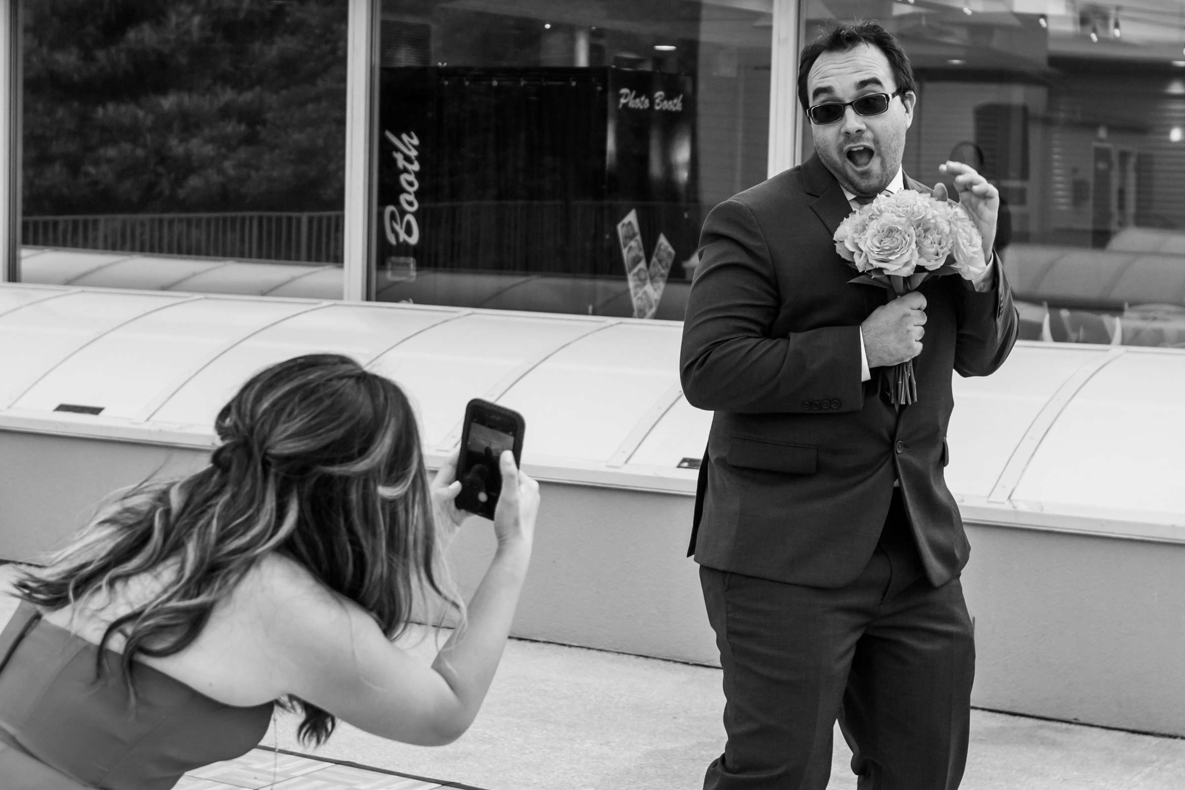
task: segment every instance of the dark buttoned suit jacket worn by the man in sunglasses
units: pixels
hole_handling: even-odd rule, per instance
[[[878,368],[860,383],[859,325],[889,293],[848,283],[857,272],[832,240],[848,213],[839,182],[812,156],[704,221],[680,374],[688,403],[716,415],[688,554],[723,571],[843,586],[871,558],[897,479],[940,585],[968,555],[942,476],[952,371],[995,371],[1017,311],[998,265],[987,293],[956,275],[923,283],[917,402],[897,411],[879,397]]]

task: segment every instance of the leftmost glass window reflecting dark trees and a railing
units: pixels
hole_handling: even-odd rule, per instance
[[[24,282],[341,296],[346,0],[23,20]]]

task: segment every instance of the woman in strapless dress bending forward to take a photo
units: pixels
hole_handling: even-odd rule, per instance
[[[530,561],[538,484],[500,467],[498,550],[468,606],[440,565],[463,515],[455,458],[431,487],[393,383],[340,355],[256,374],[210,464],[143,484],[44,569],[0,635],[5,790],[164,790],[255,746],[276,704],[320,744],[338,718],[447,744],[493,680]],[[429,667],[393,644],[444,600]]]

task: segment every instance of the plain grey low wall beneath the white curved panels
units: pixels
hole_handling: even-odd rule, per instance
[[[0,559],[60,545],[111,489],[199,468],[194,449],[0,431]],[[52,469],[55,474],[46,475]],[[719,666],[692,497],[544,482],[513,635]],[[1185,736],[1185,545],[971,524],[972,704]],[[449,561],[468,595],[494,541],[468,521]]]

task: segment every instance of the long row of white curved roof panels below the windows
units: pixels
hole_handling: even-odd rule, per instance
[[[680,335],[670,321],[0,285],[0,428],[210,447],[251,374],[335,352],[404,387],[434,461],[482,397],[523,412],[540,479],[690,494],[711,415],[679,390]],[[1185,352],[1020,342],[954,391],[947,480],[965,518],[1185,541]]]

